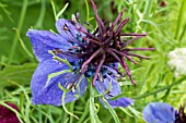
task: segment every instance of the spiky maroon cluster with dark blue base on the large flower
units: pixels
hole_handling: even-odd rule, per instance
[[[68,57],[81,58],[80,61],[75,61],[72,64],[77,64],[74,70],[80,70],[80,74],[85,74],[86,77],[93,76],[92,84],[95,84],[95,81],[98,76],[103,76],[102,69],[104,65],[112,67],[111,63],[120,63],[120,65],[126,71],[132,84],[136,85],[132,79],[129,67],[126,63],[126,59],[133,62],[135,64],[139,64],[137,61],[132,59],[132,57],[137,57],[139,59],[149,59],[148,57],[142,57],[139,54],[131,53],[130,51],[143,51],[143,50],[154,50],[154,48],[126,48],[128,45],[133,42],[135,40],[147,36],[147,34],[137,34],[137,33],[121,33],[121,28],[127,24],[129,19],[121,20],[123,13],[125,9],[119,13],[114,23],[109,26],[105,26],[102,20],[98,16],[96,5],[93,0],[91,0],[93,4],[93,9],[96,16],[96,22],[98,27],[95,32],[90,33],[85,28],[78,27],[77,29],[83,34],[77,35],[77,39],[79,42],[75,42],[74,46],[70,48],[70,51],[63,52]],[[71,22],[72,24],[75,23]],[[65,30],[69,30],[68,24],[63,26]],[[124,41],[123,37],[135,36],[135,38]],[[62,52],[62,51],[56,51]],[[81,67],[81,69],[80,69]],[[92,67],[92,69],[90,69]],[[104,71],[105,72],[105,71]],[[111,73],[111,72],[109,72]],[[124,76],[124,75],[123,75]]]

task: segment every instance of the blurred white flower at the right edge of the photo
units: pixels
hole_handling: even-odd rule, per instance
[[[186,48],[176,48],[167,57],[170,59],[168,66],[171,70],[175,70],[175,77],[186,75]]]

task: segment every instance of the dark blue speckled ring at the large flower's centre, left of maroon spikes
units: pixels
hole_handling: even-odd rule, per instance
[[[89,40],[88,38],[81,36],[80,34],[77,34],[77,40],[79,41],[79,44],[72,44],[73,46],[69,49],[69,53],[71,54],[81,53],[84,56],[82,56],[80,60],[71,62],[71,65],[73,66],[73,72],[79,72],[80,70],[82,70],[82,67],[85,67],[81,72],[84,73],[85,77],[93,77],[96,74],[96,69],[97,69],[96,66],[102,60],[100,58],[102,52],[101,50],[97,50],[96,45],[91,44],[91,41],[88,41]],[[79,46],[82,46],[86,49],[79,47]],[[94,52],[96,52],[96,56]],[[94,56],[94,58],[86,65],[84,65],[84,62],[89,60],[89,58],[91,58],[92,56]],[[107,64],[107,66],[114,67],[115,64]],[[112,72],[109,72],[107,67],[101,66],[100,72],[98,72],[100,78],[106,78],[106,74],[112,75]],[[96,79],[98,81],[98,78]]]

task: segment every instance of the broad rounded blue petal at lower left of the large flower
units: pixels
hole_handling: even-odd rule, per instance
[[[69,67],[66,64],[59,64],[53,60],[45,60],[38,64],[31,82],[33,95],[32,101],[34,104],[61,104],[61,96],[63,93],[58,87],[58,83],[60,83],[61,86],[67,87],[67,82],[68,84],[71,83],[77,75],[73,73],[58,75],[53,77],[48,84],[47,79],[49,74],[60,72],[62,70],[69,70]],[[75,91],[70,90],[66,95],[66,103],[81,97],[85,93],[86,85],[86,78],[82,78]],[[77,97],[77,95],[79,97]]]

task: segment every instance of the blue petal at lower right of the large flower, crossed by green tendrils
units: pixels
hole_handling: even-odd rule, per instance
[[[126,98],[126,97],[121,97],[121,98],[118,98],[116,100],[109,100],[109,98],[113,98],[115,96],[120,95],[121,91],[120,91],[120,87],[118,85],[118,82],[116,82],[114,79],[111,81],[108,75],[104,79],[104,82],[96,81],[95,87],[96,87],[96,89],[100,94],[104,94],[109,88],[109,84],[112,84],[112,88],[109,89],[109,94],[104,95],[104,97],[107,99],[107,102],[112,106],[112,108],[127,107],[127,106],[133,103],[132,99]],[[106,107],[102,99],[101,99],[101,102],[104,104],[104,107]]]

